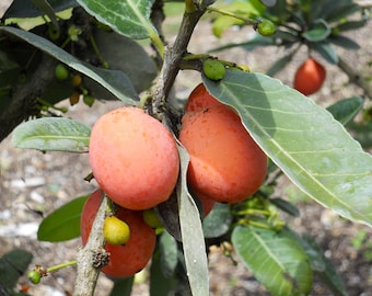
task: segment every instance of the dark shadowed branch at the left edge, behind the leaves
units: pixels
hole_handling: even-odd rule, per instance
[[[0,141],[19,124],[37,113],[36,98],[43,94],[54,79],[56,65],[56,59],[43,54],[42,62],[31,80],[15,88],[9,106],[0,115]]]

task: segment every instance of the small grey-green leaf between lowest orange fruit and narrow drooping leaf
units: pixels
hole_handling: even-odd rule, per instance
[[[176,269],[177,242],[167,231],[163,231],[159,240],[161,270],[165,277],[171,277]]]

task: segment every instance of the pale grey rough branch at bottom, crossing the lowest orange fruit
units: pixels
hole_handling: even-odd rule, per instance
[[[91,296],[97,283],[100,269],[104,265],[105,239],[103,236],[103,224],[107,206],[107,197],[103,193],[102,203],[95,216],[91,234],[84,248],[78,253],[78,276],[73,296]]]

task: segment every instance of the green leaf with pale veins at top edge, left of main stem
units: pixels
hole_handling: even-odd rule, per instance
[[[152,1],[78,0],[78,2],[100,22],[127,37],[142,39],[155,32],[150,22]]]

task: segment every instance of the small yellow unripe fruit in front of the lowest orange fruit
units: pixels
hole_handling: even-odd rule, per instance
[[[103,235],[105,240],[114,246],[125,244],[130,238],[130,229],[128,224],[115,216],[105,218],[103,225]]]

